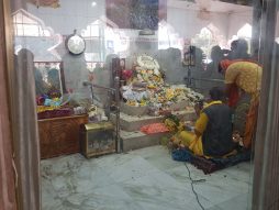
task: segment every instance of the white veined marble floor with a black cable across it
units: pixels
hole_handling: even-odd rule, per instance
[[[250,163],[204,175],[187,164],[207,210],[249,209]],[[201,210],[186,165],[153,146],[86,159],[42,161],[43,210]]]

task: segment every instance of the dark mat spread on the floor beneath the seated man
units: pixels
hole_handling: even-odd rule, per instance
[[[250,151],[239,151],[236,155],[231,155],[226,158],[205,158],[196,156],[187,148],[177,148],[171,152],[171,156],[175,161],[189,162],[197,168],[203,170],[204,174],[211,174],[238,163],[247,162],[250,159]]]

